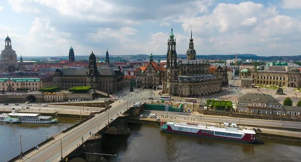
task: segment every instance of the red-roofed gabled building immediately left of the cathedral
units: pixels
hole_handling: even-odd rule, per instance
[[[147,65],[140,66],[136,70],[136,87],[144,89],[162,89],[164,71],[165,68],[160,66],[160,62],[154,62],[153,53],[150,54]]]

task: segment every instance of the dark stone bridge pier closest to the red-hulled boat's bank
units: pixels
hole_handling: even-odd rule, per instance
[[[118,135],[128,135],[130,134],[130,130],[127,127],[127,116],[118,117],[116,121],[110,125],[110,127],[105,130],[106,134],[118,134]]]

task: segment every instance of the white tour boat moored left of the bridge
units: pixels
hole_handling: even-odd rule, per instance
[[[41,114],[16,113],[13,111],[9,114],[1,114],[0,121],[9,123],[56,123],[58,119],[51,116],[41,116]]]

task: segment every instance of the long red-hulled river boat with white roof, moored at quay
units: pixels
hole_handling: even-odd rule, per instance
[[[167,122],[161,126],[161,130],[167,133],[190,135],[203,138],[229,140],[243,143],[263,143],[256,137],[253,130],[234,127],[215,127],[195,123]]]

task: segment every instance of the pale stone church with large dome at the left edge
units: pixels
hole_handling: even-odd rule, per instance
[[[18,63],[16,51],[12,49],[12,41],[9,36],[5,39],[5,48],[1,51],[0,72],[14,72],[24,70],[24,62],[21,56]]]

